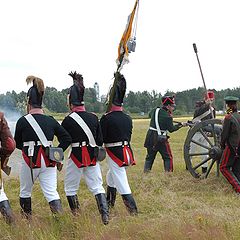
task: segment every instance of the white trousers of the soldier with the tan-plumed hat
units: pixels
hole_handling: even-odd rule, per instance
[[[48,202],[60,199],[57,192],[57,168],[46,167],[45,161],[41,156],[41,168],[34,168],[33,180],[38,178],[43,194]],[[20,197],[29,198],[32,195],[33,182],[31,177],[31,169],[22,159],[20,173]]]

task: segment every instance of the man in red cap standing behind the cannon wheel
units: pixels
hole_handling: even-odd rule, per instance
[[[214,92],[209,90],[205,94],[204,100],[196,102],[196,107],[195,107],[195,111],[194,111],[194,115],[193,115],[193,119],[192,119],[191,123],[195,124],[195,123],[199,123],[204,120],[207,120],[207,119],[215,118],[215,115],[216,115],[215,109],[212,106],[213,101],[214,101]],[[196,142],[199,142],[205,146],[209,145],[207,140],[203,137],[203,135],[200,132],[197,132],[194,134],[193,140],[195,140]],[[196,152],[196,150],[197,150],[197,145],[195,143],[191,143],[190,144],[190,152],[194,153],[194,152]],[[202,148],[202,151],[205,152],[205,149]],[[207,159],[207,157],[208,156],[202,156],[202,161]],[[202,165],[202,173],[207,172],[207,167],[208,167],[207,162]]]

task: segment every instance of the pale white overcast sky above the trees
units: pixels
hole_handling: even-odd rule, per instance
[[[0,4],[0,93],[27,91],[34,75],[58,90],[97,82],[106,94],[135,0],[8,0]],[[122,73],[127,91],[239,87],[239,0],[140,0],[136,51]]]

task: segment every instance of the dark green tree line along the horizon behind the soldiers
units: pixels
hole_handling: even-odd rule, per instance
[[[225,89],[216,91],[214,105],[216,110],[224,110],[224,97],[227,95],[240,97],[240,88]],[[193,88],[181,92],[167,91],[164,95],[176,96],[175,115],[187,115],[194,111],[196,101],[202,100],[205,90],[201,87]],[[43,106],[51,112],[67,113],[68,88],[58,91],[54,87],[46,87]],[[16,93],[15,91],[0,94],[0,106],[2,109],[8,109],[24,114],[26,112],[27,97],[26,92]],[[147,114],[152,108],[161,105],[161,93],[153,90],[151,92],[133,92],[129,91],[124,98],[124,109],[129,113]],[[90,112],[104,113],[106,111],[106,102],[97,99],[94,88],[86,88],[84,94],[86,109]]]

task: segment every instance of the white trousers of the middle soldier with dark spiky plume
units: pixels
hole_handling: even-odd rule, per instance
[[[105,193],[99,163],[97,162],[95,166],[78,168],[70,158],[68,160],[64,179],[64,190],[66,196],[74,196],[77,194],[82,177],[84,177],[89,191],[94,196],[99,193]]]

